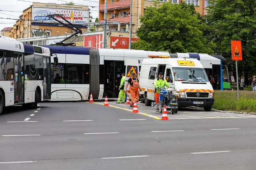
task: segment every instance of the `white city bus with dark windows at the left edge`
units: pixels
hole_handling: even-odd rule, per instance
[[[50,100],[50,71],[48,48],[0,36],[0,115],[6,106]]]

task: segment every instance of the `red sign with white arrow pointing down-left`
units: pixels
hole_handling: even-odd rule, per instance
[[[138,39],[139,38],[132,38],[132,42]],[[110,37],[110,48],[128,49],[129,37]]]

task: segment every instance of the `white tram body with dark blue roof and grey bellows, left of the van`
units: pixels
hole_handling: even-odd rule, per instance
[[[131,72],[138,76],[141,63],[148,55],[166,55],[164,52],[129,49],[43,47],[58,55],[58,65],[51,59],[51,101],[88,100],[90,94],[96,100],[103,100],[105,96],[118,98],[123,72],[127,81]]]

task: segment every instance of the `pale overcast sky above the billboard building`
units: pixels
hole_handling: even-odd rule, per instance
[[[85,5],[90,8],[92,18],[97,18],[99,13],[99,0],[1,0],[0,4],[0,30],[13,27],[23,10],[30,7],[33,2]],[[9,18],[9,19],[6,19]],[[14,19],[14,20],[12,20]],[[94,19],[92,19],[94,21]]]

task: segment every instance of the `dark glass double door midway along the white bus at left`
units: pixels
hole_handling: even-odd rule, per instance
[[[14,53],[14,104],[24,102],[24,63],[23,55]]]

